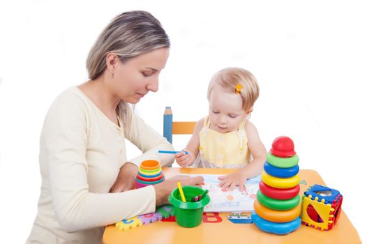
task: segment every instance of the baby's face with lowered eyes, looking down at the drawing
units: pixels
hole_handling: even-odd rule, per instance
[[[210,128],[221,133],[237,130],[239,123],[246,118],[241,95],[225,91],[216,86],[209,98]]]

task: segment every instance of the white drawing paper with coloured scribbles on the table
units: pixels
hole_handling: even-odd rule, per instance
[[[218,185],[220,174],[190,174],[190,176],[204,177],[204,190],[209,190],[210,202],[204,207],[204,212],[234,212],[253,211],[253,202],[256,199],[256,192],[259,190],[261,176],[250,178],[246,181],[244,191],[239,188],[234,190],[222,190]]]

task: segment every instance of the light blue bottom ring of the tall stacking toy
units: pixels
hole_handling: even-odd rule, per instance
[[[251,219],[256,224],[256,226],[262,231],[265,231],[267,233],[274,233],[277,235],[288,234],[292,231],[295,231],[301,226],[301,218],[299,217],[295,218],[290,222],[276,223],[264,220],[259,215],[257,215],[255,211],[253,211],[253,213],[251,213]]]

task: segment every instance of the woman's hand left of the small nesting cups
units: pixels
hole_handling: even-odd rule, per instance
[[[110,192],[126,192],[135,188],[135,176],[138,168],[132,162],[126,162],[119,171],[116,181],[112,185]]]

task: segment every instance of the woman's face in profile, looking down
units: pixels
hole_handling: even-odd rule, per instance
[[[160,49],[117,61],[111,86],[114,93],[126,102],[137,103],[149,91],[158,91],[158,77],[165,68],[170,49]]]

